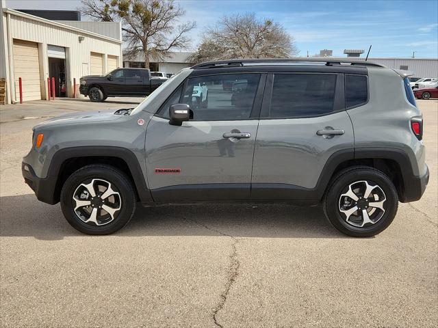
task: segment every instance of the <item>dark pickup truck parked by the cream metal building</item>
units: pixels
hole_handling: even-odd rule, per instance
[[[146,68],[117,68],[106,75],[81,77],[79,92],[89,96],[93,102],[107,97],[149,96],[165,79],[151,77]]]

